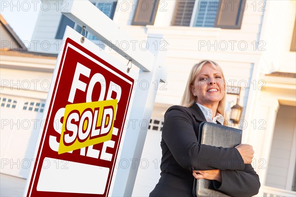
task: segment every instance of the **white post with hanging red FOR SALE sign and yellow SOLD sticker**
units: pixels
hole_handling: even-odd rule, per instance
[[[68,3],[66,16],[102,41],[113,40],[106,43],[140,72],[127,72],[125,65],[90,40],[80,41],[81,35],[67,27],[25,196],[131,196],[156,97],[154,83],[165,79],[165,51],[159,50],[164,40],[148,35],[148,51],[122,50],[115,41],[133,40],[128,34],[89,1]],[[139,83],[144,80],[145,89]],[[128,127],[134,120],[147,126]],[[135,163],[121,168],[122,159]]]

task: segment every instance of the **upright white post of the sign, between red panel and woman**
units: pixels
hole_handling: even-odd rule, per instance
[[[161,35],[148,34],[148,44],[162,43],[164,40]],[[152,82],[159,82],[160,79],[165,79],[166,72],[161,69],[165,59],[165,50],[159,50],[158,47],[150,47],[149,51],[155,55],[153,66],[150,72],[141,70],[138,81],[147,81],[149,86],[143,88],[137,86],[134,102],[132,104],[129,122],[135,122],[133,127],[128,127],[123,144],[120,160],[127,159],[130,162],[125,168],[118,168],[115,185],[113,189],[114,197],[130,197],[132,196],[134,183],[137,176],[138,167],[141,161],[141,155],[147,135],[147,129],[154,105],[154,100],[157,93],[157,87]],[[158,83],[157,83],[158,85]]]

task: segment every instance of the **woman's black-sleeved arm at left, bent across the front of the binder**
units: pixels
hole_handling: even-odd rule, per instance
[[[244,161],[236,148],[199,144],[194,124],[194,118],[185,110],[172,109],[165,114],[162,138],[178,164],[190,171],[244,169]]]

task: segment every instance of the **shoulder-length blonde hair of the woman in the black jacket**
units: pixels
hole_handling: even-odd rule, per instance
[[[211,64],[215,69],[219,70],[222,73],[223,80],[225,80],[222,68],[214,61],[211,60],[202,60],[198,64],[194,65],[190,71],[189,78],[186,84],[186,88],[181,100],[181,105],[185,107],[190,107],[195,103],[195,97],[192,95],[190,86],[193,85],[196,75],[200,72],[202,66],[205,64]],[[226,83],[225,83],[226,84]],[[222,100],[219,101],[217,112],[220,113],[224,117],[224,123],[223,125],[228,124],[228,118],[226,116],[226,112],[224,109],[225,106],[225,96],[226,96],[226,85],[225,85],[225,94]]]

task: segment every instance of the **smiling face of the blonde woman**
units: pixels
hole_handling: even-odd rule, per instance
[[[191,92],[196,94],[195,101],[204,105],[217,104],[223,99],[225,94],[225,83],[222,73],[215,69],[210,63],[202,66],[197,73]]]

